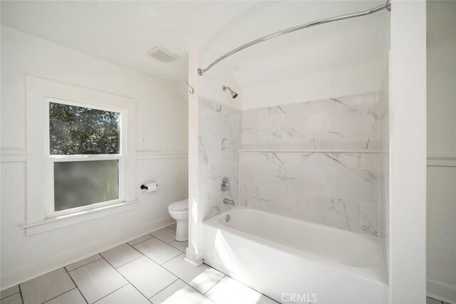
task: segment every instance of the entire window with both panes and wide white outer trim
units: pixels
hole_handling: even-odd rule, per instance
[[[26,76],[26,235],[135,208],[136,100]]]

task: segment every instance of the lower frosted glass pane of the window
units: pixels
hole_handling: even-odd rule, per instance
[[[54,210],[118,199],[118,162],[54,162]]]

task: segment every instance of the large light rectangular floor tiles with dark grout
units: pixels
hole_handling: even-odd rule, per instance
[[[276,303],[205,264],[190,265],[184,261],[187,242],[174,236],[175,224],[140,236],[6,289],[0,303]]]

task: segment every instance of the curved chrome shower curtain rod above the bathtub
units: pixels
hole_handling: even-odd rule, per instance
[[[206,73],[208,70],[210,70],[214,65],[219,63],[220,61],[224,60],[224,58],[227,58],[229,56],[232,56],[233,54],[244,50],[244,48],[249,48],[250,46],[254,46],[257,43],[276,38],[282,35],[285,35],[287,33],[292,33],[294,31],[299,31],[304,28],[310,28],[311,26],[319,26],[320,24],[324,23],[330,23],[333,21],[339,21],[339,20],[344,20],[344,19],[351,19],[351,18],[356,18],[356,17],[361,17],[361,16],[366,16],[370,15],[373,13],[376,13],[378,11],[381,11],[383,9],[387,9],[388,11],[391,11],[391,3],[390,0],[387,0],[385,4],[374,7],[373,9],[369,9],[367,11],[358,11],[358,13],[353,13],[353,14],[346,14],[346,15],[341,15],[341,16],[336,16],[336,17],[331,17],[327,19],[321,19],[318,21],[306,23],[306,24],[301,24],[300,26],[294,26],[292,28],[286,28],[282,31],[276,31],[275,33],[271,33],[269,35],[263,36],[261,38],[255,39],[254,41],[250,41],[248,43],[243,44],[242,46],[239,46],[238,48],[234,48],[234,50],[229,51],[228,53],[224,54],[223,56],[219,57],[216,61],[213,63],[209,64],[207,68],[199,68],[198,69],[198,75],[202,75],[203,73]]]

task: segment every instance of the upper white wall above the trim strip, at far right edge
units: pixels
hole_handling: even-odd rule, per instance
[[[456,2],[427,1],[427,153],[456,152]]]

